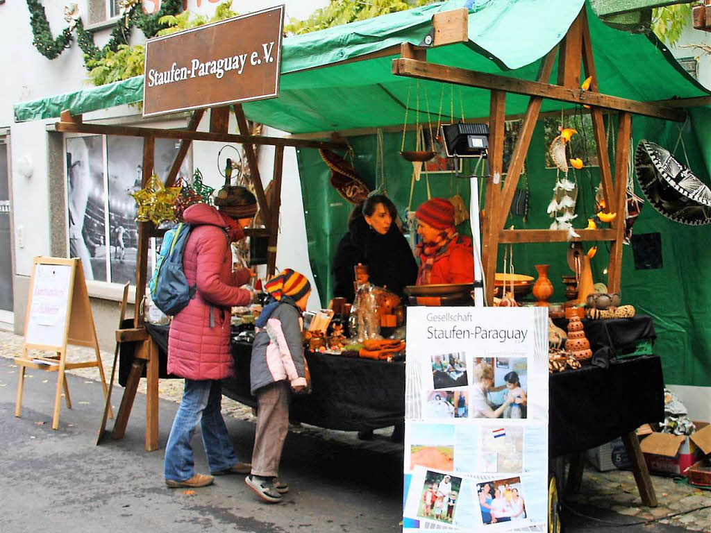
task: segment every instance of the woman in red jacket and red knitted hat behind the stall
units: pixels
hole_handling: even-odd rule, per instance
[[[417,208],[419,257],[417,285],[471,283],[474,281],[474,255],[471,239],[454,227],[454,207],[449,200],[432,198]]]

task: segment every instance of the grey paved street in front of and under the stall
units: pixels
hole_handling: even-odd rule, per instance
[[[21,338],[0,332],[0,355],[18,353]],[[71,357],[85,357],[83,348]],[[83,354],[83,355],[82,355]],[[106,355],[105,355],[106,356]],[[110,371],[111,355],[105,357]],[[292,491],[281,505],[258,502],[241,476],[218,478],[191,491],[163,483],[163,450],[145,452],[145,403],[138,394],[127,436],[95,446],[102,393],[94,369],[70,375],[74,409],[63,407],[60,429],[51,429],[55,374],[28,370],[23,416],[14,417],[17,370],[0,358],[0,471],[4,510],[0,532],[395,532],[400,530],[402,447],[387,439],[312,426],[293,427],[287,438],[282,477]],[[165,445],[181,390],[180,380],[161,380],[160,443]],[[122,388],[114,390],[118,407]],[[254,438],[251,410],[225,399],[226,422],[240,458],[248,459]],[[109,421],[109,428],[112,427]],[[199,471],[206,471],[199,432],[194,441]],[[631,473],[598,473],[588,467],[575,512],[616,524],[641,522],[711,504],[711,493],[653,478],[660,507],[641,507]],[[565,512],[567,533],[616,530],[607,522]],[[674,517],[626,532],[711,531],[711,510]]]

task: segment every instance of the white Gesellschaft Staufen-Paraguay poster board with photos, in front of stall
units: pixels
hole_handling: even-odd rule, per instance
[[[407,309],[403,532],[547,532],[547,320]]]

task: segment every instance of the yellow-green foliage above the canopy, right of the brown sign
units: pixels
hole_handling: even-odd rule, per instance
[[[330,0],[328,6],[316,9],[309,18],[299,21],[290,18],[284,25],[289,35],[311,33],[349,22],[363,21],[366,18],[405,11],[425,4],[434,4],[439,0]]]

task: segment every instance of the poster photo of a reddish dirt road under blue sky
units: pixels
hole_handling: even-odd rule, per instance
[[[405,436],[410,453],[408,470],[417,466],[435,470],[454,470],[454,425],[410,424]],[[406,463],[407,464],[407,463]]]

